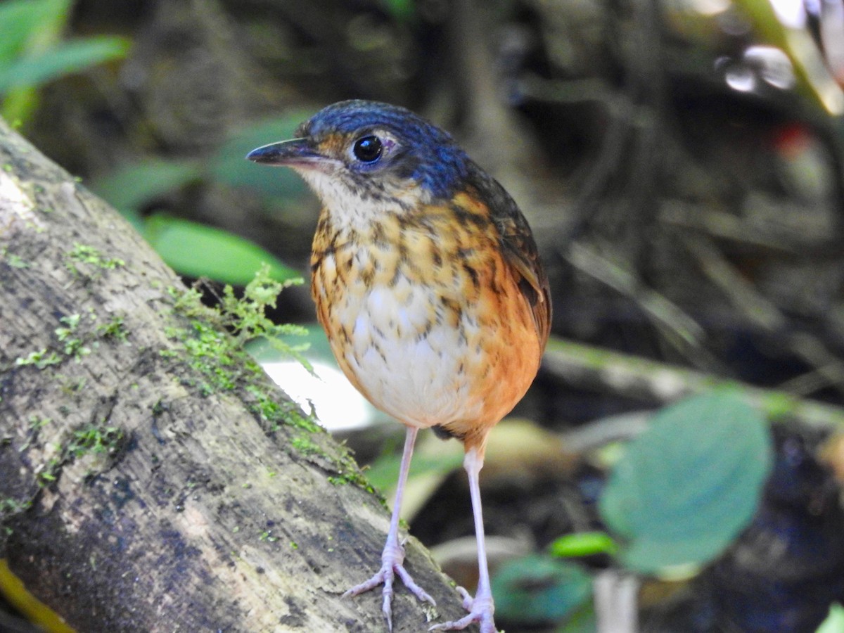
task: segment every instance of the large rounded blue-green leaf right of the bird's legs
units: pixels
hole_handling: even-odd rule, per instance
[[[627,446],[599,503],[620,559],[653,573],[701,565],[752,519],[771,470],[765,419],[729,392],[664,408]]]

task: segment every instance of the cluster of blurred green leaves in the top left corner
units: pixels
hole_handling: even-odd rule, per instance
[[[124,57],[129,42],[106,35],[64,41],[62,31],[72,0],[6,0],[0,4],[0,95],[10,121],[36,104],[34,88]]]

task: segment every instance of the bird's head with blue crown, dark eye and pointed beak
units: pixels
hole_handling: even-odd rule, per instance
[[[468,173],[452,137],[402,107],[350,100],[327,106],[246,158],[290,167],[327,208],[407,208],[451,197]]]

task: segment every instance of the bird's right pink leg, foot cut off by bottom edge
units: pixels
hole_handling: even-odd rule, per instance
[[[457,587],[457,591],[463,596],[463,608],[469,614],[456,621],[446,622],[441,625],[431,626],[429,630],[459,630],[465,629],[473,622],[480,626],[480,633],[497,633],[492,615],[495,612],[495,604],[492,602],[492,589],[490,587],[490,570],[486,564],[486,545],[484,544],[484,516],[480,506],[480,484],[478,481],[480,469],[484,467],[484,457],[473,448],[463,458],[463,468],[469,477],[469,493],[472,495],[472,514],[475,522],[475,536],[478,539],[478,591],[475,597],[463,587]]]

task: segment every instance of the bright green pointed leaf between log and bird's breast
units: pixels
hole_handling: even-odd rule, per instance
[[[144,227],[144,237],[162,259],[189,277],[245,286],[262,263],[268,264],[270,277],[278,281],[300,277],[261,246],[222,229],[167,214],[150,216]]]

